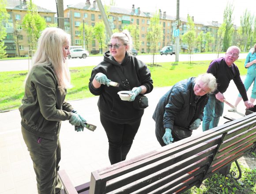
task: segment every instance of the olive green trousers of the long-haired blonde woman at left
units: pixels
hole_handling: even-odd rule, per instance
[[[62,184],[57,176],[60,166],[59,134],[56,140],[42,139],[21,129],[36,173],[38,194],[59,194]]]

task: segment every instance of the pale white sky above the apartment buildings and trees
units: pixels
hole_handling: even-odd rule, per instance
[[[102,0],[102,4],[109,5],[110,0]],[[47,8],[51,11],[56,11],[55,0],[33,0],[34,4]],[[86,2],[86,0],[63,0],[64,9],[69,4],[76,4]],[[135,8],[140,7],[143,12],[155,12],[161,9],[162,13],[166,11],[167,15],[176,17],[177,0],[115,0],[117,7],[130,7],[132,4]],[[194,21],[218,21],[223,22],[223,12],[227,3],[233,4],[233,19],[234,24],[240,26],[240,17],[245,10],[250,11],[251,14],[256,15],[256,0],[180,0],[180,17],[186,18],[189,14],[194,16]],[[90,0],[93,4],[93,0]]]

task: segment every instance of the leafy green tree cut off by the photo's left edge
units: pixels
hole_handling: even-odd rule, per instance
[[[8,23],[8,19],[10,18],[5,7],[6,0],[0,0],[0,58],[3,58],[6,55],[4,39],[7,33],[5,25]]]

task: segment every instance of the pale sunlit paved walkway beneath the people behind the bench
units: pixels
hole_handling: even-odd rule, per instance
[[[154,120],[152,114],[160,97],[170,87],[154,88],[147,94],[149,107],[145,109],[142,122],[127,159],[139,156],[160,147],[154,134]],[[251,91],[248,91],[250,94]],[[230,103],[234,103],[238,91],[230,83],[229,89],[224,96]],[[98,97],[71,101],[72,106],[87,119],[88,123],[97,125],[92,132],[87,129],[76,132],[68,121],[62,122],[60,142],[62,158],[60,169],[65,169],[75,186],[90,181],[90,173],[109,166],[108,141],[105,131],[99,121],[97,107]],[[224,114],[233,118],[241,116],[227,112],[229,107],[225,104]],[[245,106],[241,102],[238,110],[245,113]],[[90,113],[89,113],[90,112]],[[221,118],[219,125],[227,120]],[[20,116],[18,110],[0,113],[0,194],[36,194],[36,179],[33,164],[27,151],[20,130]],[[202,132],[199,129],[192,135]]]

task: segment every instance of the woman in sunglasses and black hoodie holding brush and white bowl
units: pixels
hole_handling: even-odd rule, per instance
[[[92,70],[89,89],[99,95],[100,119],[109,140],[109,160],[116,164],[126,159],[144,113],[143,109],[133,108],[132,101],[139,93],[150,93],[153,81],[145,63],[131,55],[132,37],[127,30],[114,33],[108,48],[104,60]],[[110,81],[120,86],[109,86]],[[122,101],[117,93],[128,90],[127,85],[132,89],[132,97]]]

